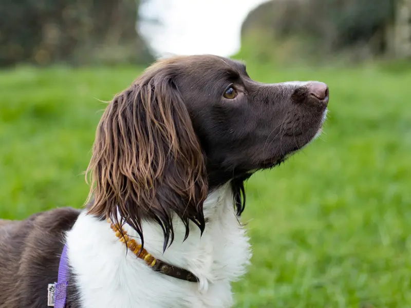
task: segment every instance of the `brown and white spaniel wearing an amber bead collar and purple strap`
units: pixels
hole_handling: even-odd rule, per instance
[[[328,100],[225,57],[159,60],[105,109],[84,209],[0,222],[0,308],[232,306],[244,182],[315,139]]]

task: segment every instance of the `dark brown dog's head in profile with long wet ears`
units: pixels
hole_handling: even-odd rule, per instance
[[[102,116],[88,167],[89,213],[116,222],[120,216],[141,238],[142,220],[154,220],[164,248],[174,237],[173,215],[186,236],[190,221],[202,231],[208,192],[230,181],[240,214],[242,182],[308,144],[327,103],[324,83],[259,83],[223,57],[159,61]]]

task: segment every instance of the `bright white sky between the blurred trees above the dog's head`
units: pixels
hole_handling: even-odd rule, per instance
[[[211,53],[230,56],[240,48],[241,24],[267,0],[147,0],[140,33],[157,56]]]

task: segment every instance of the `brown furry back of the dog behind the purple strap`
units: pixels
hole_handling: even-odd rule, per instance
[[[0,308],[44,307],[47,284],[57,281],[64,232],[79,213],[59,208],[0,220]]]

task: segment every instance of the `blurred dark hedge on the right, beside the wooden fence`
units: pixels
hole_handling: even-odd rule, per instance
[[[410,3],[411,0],[272,0],[249,14],[242,37],[257,29],[280,41],[299,37],[315,53],[333,54],[362,47],[368,56],[406,57],[411,52]]]

